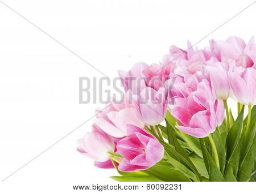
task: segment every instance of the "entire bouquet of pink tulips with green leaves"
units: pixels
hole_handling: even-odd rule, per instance
[[[256,44],[209,42],[118,71],[123,99],[96,110],[77,151],[117,181],[255,181]]]

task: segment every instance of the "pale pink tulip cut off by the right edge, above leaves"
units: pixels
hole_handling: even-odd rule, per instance
[[[240,71],[237,67],[233,67],[228,75],[234,100],[243,105],[256,105],[256,70],[246,68]]]

